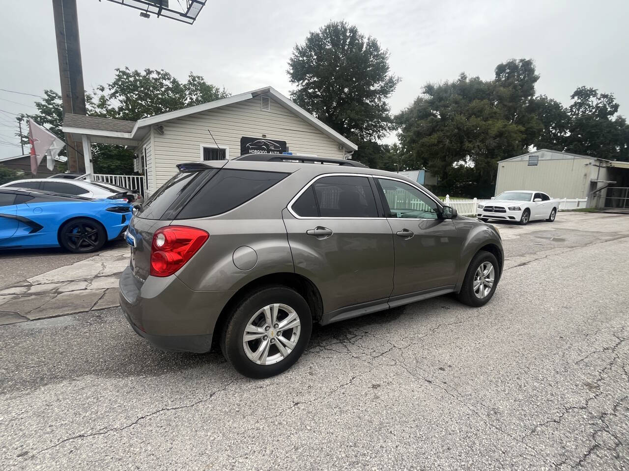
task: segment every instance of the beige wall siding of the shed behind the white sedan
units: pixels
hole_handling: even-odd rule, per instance
[[[590,178],[596,178],[596,160],[539,151],[538,165],[528,165],[528,155],[498,163],[496,195],[508,190],[539,190],[552,198],[586,198]]]

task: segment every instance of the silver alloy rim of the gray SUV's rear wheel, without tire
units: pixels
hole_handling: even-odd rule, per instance
[[[301,321],[291,306],[270,304],[249,319],[242,345],[252,362],[272,365],[284,360],[295,349],[300,333]]]

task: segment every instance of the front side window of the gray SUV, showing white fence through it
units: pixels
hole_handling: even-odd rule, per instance
[[[438,205],[408,183],[378,178],[389,205],[389,217],[437,219]]]

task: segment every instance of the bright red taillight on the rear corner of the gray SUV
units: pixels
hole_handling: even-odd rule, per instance
[[[209,239],[203,229],[169,225],[157,229],[151,246],[151,276],[170,276],[184,266]]]

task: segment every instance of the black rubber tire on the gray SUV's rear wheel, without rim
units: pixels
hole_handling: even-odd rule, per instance
[[[252,316],[258,311],[262,310],[265,306],[276,303],[290,306],[296,312],[300,322],[299,337],[296,340],[294,349],[288,352],[283,359],[274,364],[258,364],[250,359],[247,352],[245,352],[243,342],[245,327],[247,327]],[[278,318],[279,317],[278,315]],[[264,319],[264,314],[262,314],[262,318]],[[265,323],[264,320],[262,323]],[[260,327],[262,327],[262,325],[260,325]],[[279,338],[279,334],[276,335],[274,333],[277,332],[277,330],[273,330],[274,328],[275,327],[267,331],[271,332],[268,337],[274,337],[273,340]],[[310,308],[306,300],[304,300],[299,293],[286,286],[266,286],[245,295],[231,311],[230,316],[226,320],[225,328],[223,328],[223,332],[221,332],[221,350],[223,350],[223,355],[225,355],[228,362],[230,362],[240,374],[253,379],[267,378],[280,374],[295,364],[306,349],[306,345],[308,345],[312,328],[313,320]],[[270,338],[269,341],[271,341]],[[255,345],[250,345],[255,344],[255,342],[260,342],[257,344],[260,345],[262,339],[248,342],[248,345],[251,347],[250,350],[255,348]],[[279,340],[277,340],[277,342],[280,343]],[[282,346],[283,345],[282,343]],[[281,354],[277,345],[270,345],[268,351],[269,357]]]

